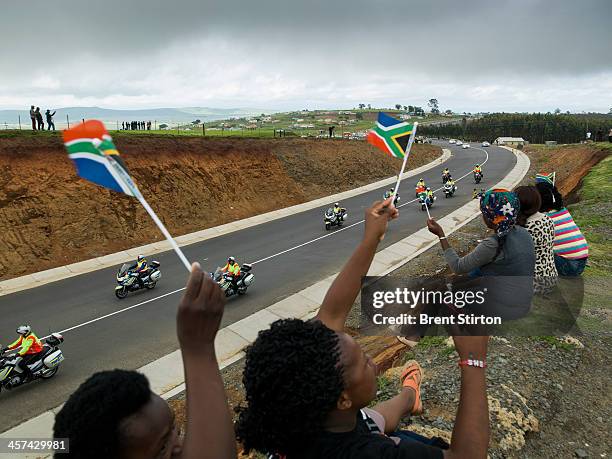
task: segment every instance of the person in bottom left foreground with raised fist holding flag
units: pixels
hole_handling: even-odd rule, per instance
[[[56,458],[229,459],[236,457],[232,420],[214,351],[223,315],[221,289],[196,263],[177,312],[185,368],[187,429],[135,371],[102,371],[68,398],[55,417],[56,438],[70,440]]]

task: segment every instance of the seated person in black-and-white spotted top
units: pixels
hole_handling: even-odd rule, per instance
[[[555,224],[540,212],[542,198],[535,186],[519,186],[514,192],[521,202],[517,224],[529,232],[535,248],[534,291],[546,293],[556,285],[558,278],[553,250]]]

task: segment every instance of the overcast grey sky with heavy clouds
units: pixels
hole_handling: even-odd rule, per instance
[[[11,1],[0,109],[608,112],[611,45],[611,0]]]

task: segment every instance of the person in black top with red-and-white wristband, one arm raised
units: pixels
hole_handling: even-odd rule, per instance
[[[402,374],[402,390],[372,407],[376,365],[344,327],[387,223],[397,217],[392,198],[366,210],[365,234],[336,277],[317,316],[274,322],[248,348],[243,382],[248,405],[239,410],[237,436],[267,457],[439,458],[439,438],[396,430],[402,417],[420,413],[422,370]],[[487,337],[457,337],[460,359],[484,361]],[[462,364],[463,365],[463,364]],[[489,415],[484,368],[461,366],[461,401],[448,457],[485,458]]]

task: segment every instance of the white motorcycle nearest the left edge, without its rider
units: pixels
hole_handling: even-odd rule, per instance
[[[59,345],[64,342],[64,337],[59,333],[52,333],[45,339],[40,357],[28,365],[32,372],[30,376],[23,374],[19,368],[22,357],[16,354],[7,355],[6,349],[0,352],[0,390],[13,389],[17,386],[30,383],[37,379],[50,379],[59,370],[64,360],[64,354]]]

